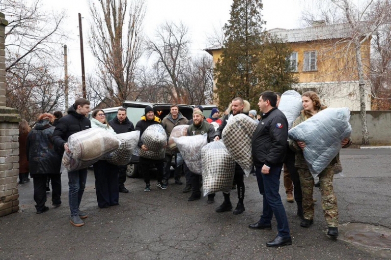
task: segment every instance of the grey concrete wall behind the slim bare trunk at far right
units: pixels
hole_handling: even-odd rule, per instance
[[[362,140],[360,111],[351,111],[353,143],[359,145]],[[376,143],[391,143],[391,110],[367,111],[367,124],[370,145]]]

